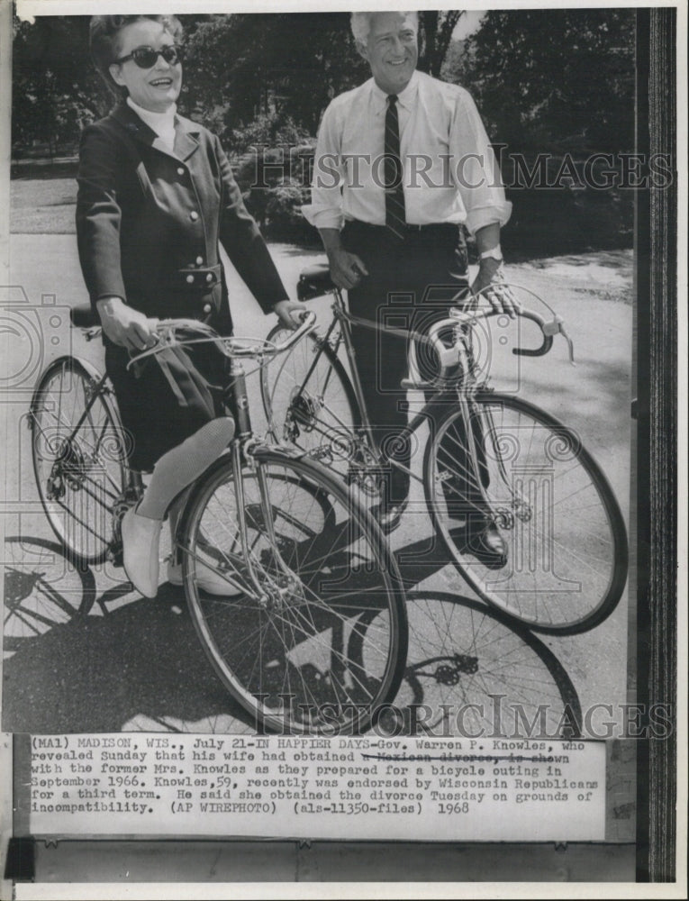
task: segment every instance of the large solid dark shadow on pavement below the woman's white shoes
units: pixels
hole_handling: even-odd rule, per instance
[[[153,600],[23,639],[4,683],[7,732],[116,732],[141,715],[246,718],[204,656],[182,589],[169,585]]]

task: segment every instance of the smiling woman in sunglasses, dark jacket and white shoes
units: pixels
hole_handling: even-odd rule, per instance
[[[179,502],[170,503],[227,446],[233,423],[222,404],[219,355],[168,354],[163,366],[149,358],[127,369],[131,353],[155,343],[159,318],[231,333],[220,241],[266,313],[292,326],[303,309],[287,298],[220,141],[177,114],[181,40],[174,16],[91,20],[91,54],[119,104],[83,132],[77,176],[79,259],[132,439],[130,466],[153,470],[141,503],[122,521],[124,568],[145,596],[158,590],[168,512],[174,536]],[[227,594],[226,581],[198,569],[201,587]],[[174,554],[168,578],[181,584]]]

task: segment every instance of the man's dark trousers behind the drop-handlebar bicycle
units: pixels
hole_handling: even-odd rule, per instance
[[[352,328],[368,416],[385,456],[408,467],[412,449],[396,440],[407,422],[400,382],[407,375],[408,341],[387,330],[424,332],[443,317],[452,297],[467,286],[464,234],[458,225],[407,226],[400,240],[385,226],[348,222],[342,242],[368,270],[349,290],[349,312],[380,327]],[[428,352],[417,345],[417,356],[428,359]],[[408,492],[409,476],[391,467],[386,503],[399,504]]]

